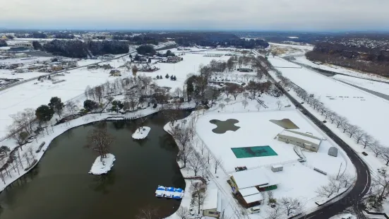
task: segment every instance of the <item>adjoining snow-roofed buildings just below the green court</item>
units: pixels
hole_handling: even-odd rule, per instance
[[[277,184],[280,184],[275,173],[265,168],[233,172],[230,182],[232,192],[244,199],[246,207],[263,203],[260,191],[277,189]]]

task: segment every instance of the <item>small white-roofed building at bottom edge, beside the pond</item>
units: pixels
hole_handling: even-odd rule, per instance
[[[222,197],[219,189],[208,189],[203,203],[203,216],[219,218],[222,211]]]

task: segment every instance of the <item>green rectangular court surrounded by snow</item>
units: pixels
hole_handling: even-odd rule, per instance
[[[231,148],[237,158],[255,158],[277,156],[270,146],[255,146],[246,148]]]

